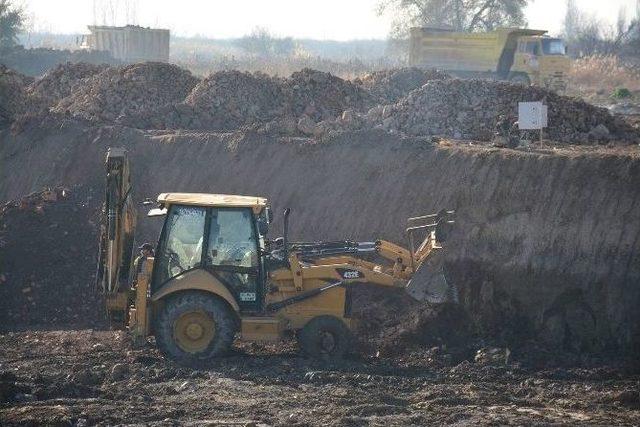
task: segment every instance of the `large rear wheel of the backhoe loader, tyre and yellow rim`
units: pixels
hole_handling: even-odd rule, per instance
[[[231,310],[215,296],[196,291],[169,297],[155,326],[160,351],[188,366],[226,353],[235,333]]]

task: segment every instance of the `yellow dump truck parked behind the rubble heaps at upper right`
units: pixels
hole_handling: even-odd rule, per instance
[[[409,62],[463,78],[492,78],[564,91],[571,60],[565,43],[544,30],[501,28],[458,33],[412,28]]]

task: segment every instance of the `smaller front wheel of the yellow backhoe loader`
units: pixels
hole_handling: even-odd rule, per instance
[[[298,332],[302,351],[317,359],[341,359],[352,342],[344,322],[333,316],[318,316]]]

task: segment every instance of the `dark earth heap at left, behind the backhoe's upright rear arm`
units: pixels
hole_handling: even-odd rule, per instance
[[[2,329],[100,323],[96,203],[90,192],[56,188],[0,209]]]

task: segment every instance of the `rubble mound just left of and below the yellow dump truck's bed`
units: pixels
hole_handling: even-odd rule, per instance
[[[416,67],[375,71],[358,78],[354,83],[367,89],[380,104],[393,104],[409,92],[418,89],[429,80],[450,79],[439,70],[421,70]]]

